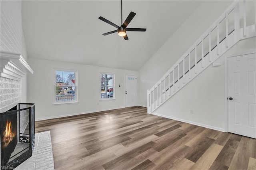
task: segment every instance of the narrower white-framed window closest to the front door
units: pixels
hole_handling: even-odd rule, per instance
[[[100,73],[100,99],[115,98],[115,81],[113,73]]]

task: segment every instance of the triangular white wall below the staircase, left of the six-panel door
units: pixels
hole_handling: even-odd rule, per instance
[[[207,67],[154,113],[224,131],[224,57],[216,62],[222,65]]]

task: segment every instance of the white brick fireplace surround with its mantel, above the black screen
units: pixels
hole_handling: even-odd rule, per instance
[[[22,77],[33,73],[19,53],[0,51],[0,113],[21,102]]]

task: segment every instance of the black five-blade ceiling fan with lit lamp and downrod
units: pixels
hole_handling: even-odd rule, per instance
[[[106,32],[104,34],[102,34],[103,36],[118,32],[118,36],[124,37],[124,40],[128,40],[128,37],[126,35],[126,31],[140,31],[140,32],[145,32],[146,28],[126,28],[128,26],[128,24],[131,22],[132,18],[134,18],[136,14],[134,12],[130,12],[130,14],[128,15],[128,17],[126,18],[126,20],[123,23],[123,10],[122,10],[122,0],[121,0],[121,26],[118,26],[116,24],[114,24],[113,22],[110,22],[109,20],[103,18],[102,16],[99,17],[100,20],[114,26],[117,28],[117,30],[114,31],[110,31],[110,32]]]

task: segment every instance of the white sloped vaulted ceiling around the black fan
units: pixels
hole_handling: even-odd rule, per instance
[[[28,57],[139,70],[202,1],[123,0],[123,21],[136,16],[129,40],[98,19],[121,25],[119,0],[22,1],[22,26]]]

